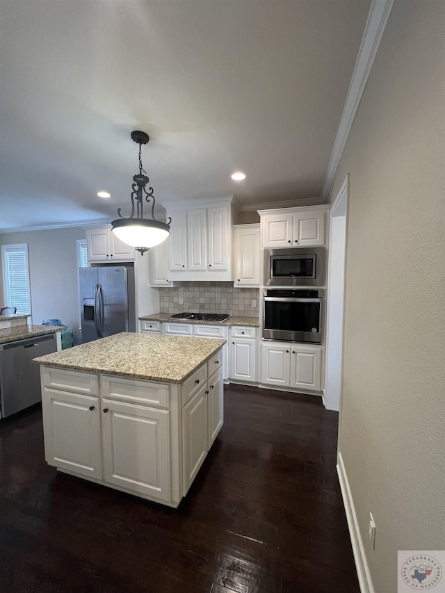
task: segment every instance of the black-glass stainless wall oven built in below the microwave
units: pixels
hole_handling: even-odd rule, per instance
[[[263,291],[263,338],[321,344],[323,341],[325,291]]]

